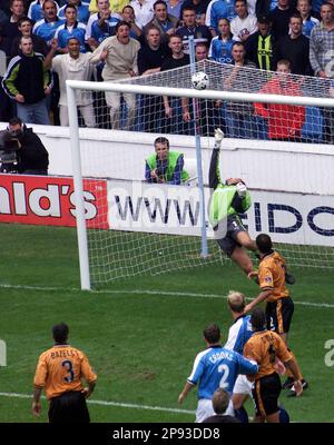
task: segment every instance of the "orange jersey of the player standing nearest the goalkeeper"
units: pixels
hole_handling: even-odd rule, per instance
[[[267,301],[289,296],[285,287],[285,260],[277,251],[262,258],[258,265],[258,284],[262,290],[272,290]]]

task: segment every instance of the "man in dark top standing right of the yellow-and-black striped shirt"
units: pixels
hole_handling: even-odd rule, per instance
[[[289,34],[277,42],[277,59],[288,60],[293,75],[312,76],[310,65],[310,39],[302,33],[303,19],[299,14],[289,18]]]

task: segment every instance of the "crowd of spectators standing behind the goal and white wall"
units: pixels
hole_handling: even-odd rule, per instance
[[[0,120],[18,116],[29,123],[67,126],[67,79],[112,81],[184,67],[189,65],[189,36],[205,58],[234,66],[222,88],[237,91],[240,82],[247,82],[240,67],[275,71],[284,66],[286,76],[334,78],[333,4],[333,0],[0,0],[0,51],[7,58],[7,70],[0,72]],[[196,58],[203,60],[200,55]],[[277,77],[262,92],[279,91],[279,85]],[[324,82],[324,97],[333,91],[328,85]],[[179,98],[80,91],[77,99],[82,126],[194,131],[193,105]],[[209,110],[206,121],[218,122],[227,136],[273,136],[269,107],[204,105],[199,103],[202,117]],[[333,144],[334,116],[325,108],[304,110],[295,140],[303,139],[303,125],[315,116],[316,141]],[[203,119],[198,127],[202,135],[213,136],[215,125]],[[288,139],[294,140],[291,135]]]

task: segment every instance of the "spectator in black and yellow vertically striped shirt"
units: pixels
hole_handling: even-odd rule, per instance
[[[268,16],[257,17],[257,28],[258,31],[249,36],[246,41],[246,57],[257,68],[274,71],[277,62],[276,43],[271,32],[272,22]]]

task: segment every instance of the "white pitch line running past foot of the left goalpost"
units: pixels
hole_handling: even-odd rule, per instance
[[[81,289],[79,288],[63,288],[63,287],[42,287],[42,286],[26,286],[26,285],[8,285],[0,284],[0,289],[22,289],[22,290],[42,290],[42,291],[70,291],[70,293],[79,293]],[[216,295],[216,294],[196,294],[196,293],[181,293],[181,291],[168,291],[168,290],[150,290],[150,289],[129,289],[129,290],[111,290],[111,289],[102,289],[102,290],[88,290],[91,294],[130,294],[130,295],[157,295],[157,296],[167,296],[167,297],[195,297],[195,298],[218,298],[226,299],[225,295]],[[247,300],[252,300],[253,298],[246,298]],[[330,303],[312,303],[312,301],[298,301],[294,300],[295,305],[301,306],[310,306],[310,307],[325,307],[325,308],[334,308],[334,305]]]

